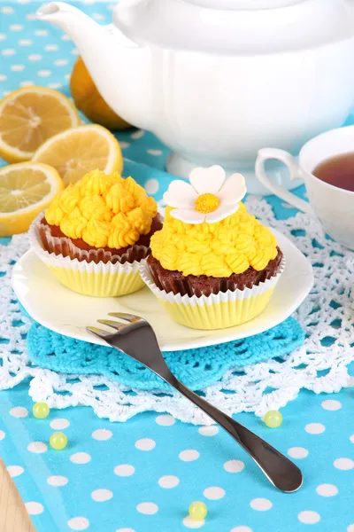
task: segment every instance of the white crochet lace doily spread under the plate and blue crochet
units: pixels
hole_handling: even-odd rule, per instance
[[[295,314],[307,335],[304,346],[284,361],[254,364],[245,367],[243,372],[229,371],[221,381],[204,390],[207,401],[229,415],[254,411],[262,416],[295,399],[301,388],[318,394],[338,392],[350,386],[347,365],[354,360],[354,253],[326,239],[319,223],[308,215],[297,214],[289,220],[278,221],[265,200],[250,197],[247,205],[264,223],[293,240],[312,261],[315,273],[312,293]],[[294,236],[296,230],[303,230],[304,236]],[[313,245],[314,239],[319,246]],[[46,401],[52,408],[91,406],[97,416],[111,421],[125,421],[143,411],[158,411],[168,412],[184,422],[212,423],[177,393],[131,390],[104,377],[58,374],[29,364],[26,340],[21,333],[27,332],[30,320],[21,315],[18,303],[12,302],[11,288],[11,264],[27,247],[26,235],[13,237],[9,246],[0,246],[0,270],[5,271],[0,278],[0,337],[10,339],[8,344],[0,343],[3,359],[0,389],[15,387],[29,377],[29,395],[34,401]],[[14,320],[22,320],[24,325],[14,327]],[[326,337],[333,338],[330,347],[321,343]],[[135,393],[127,394],[131,391]],[[63,392],[69,393],[63,395]]]

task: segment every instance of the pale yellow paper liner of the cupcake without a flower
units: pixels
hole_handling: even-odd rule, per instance
[[[37,221],[29,231],[31,246],[58,281],[74,292],[95,297],[117,297],[140,290],[144,283],[140,276],[141,262],[86,262],[49,253],[43,249]]]

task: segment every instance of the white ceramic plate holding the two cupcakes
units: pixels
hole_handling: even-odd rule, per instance
[[[104,340],[87,332],[86,325],[97,325],[96,319],[107,317],[108,312],[130,312],[150,322],[164,351],[211,346],[246,338],[280,324],[310,292],[313,284],[310,262],[289,239],[272,231],[286,254],[285,270],[262,314],[247,324],[229,329],[198,331],[175,323],[149,288],[118,298],[96,298],[72,292],[58,282],[32,250],[14,266],[12,286],[22,306],[38,323],[78,340],[106,345]]]

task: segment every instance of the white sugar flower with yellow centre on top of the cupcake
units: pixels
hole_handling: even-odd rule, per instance
[[[241,174],[226,179],[219,166],[195,168],[189,181],[173,181],[164,194],[167,205],[173,207],[173,218],[184,223],[220,222],[238,210],[238,202],[247,192]]]

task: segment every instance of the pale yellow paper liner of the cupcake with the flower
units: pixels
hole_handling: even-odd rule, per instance
[[[258,286],[234,292],[228,290],[225,293],[212,293],[199,298],[196,295],[189,297],[187,294],[182,296],[181,293],[166,293],[165,290],[160,290],[145,262],[140,271],[145,284],[177,323],[191,329],[212,330],[244,324],[263,312],[284,268],[285,257],[281,260],[277,275],[259,283]]]

